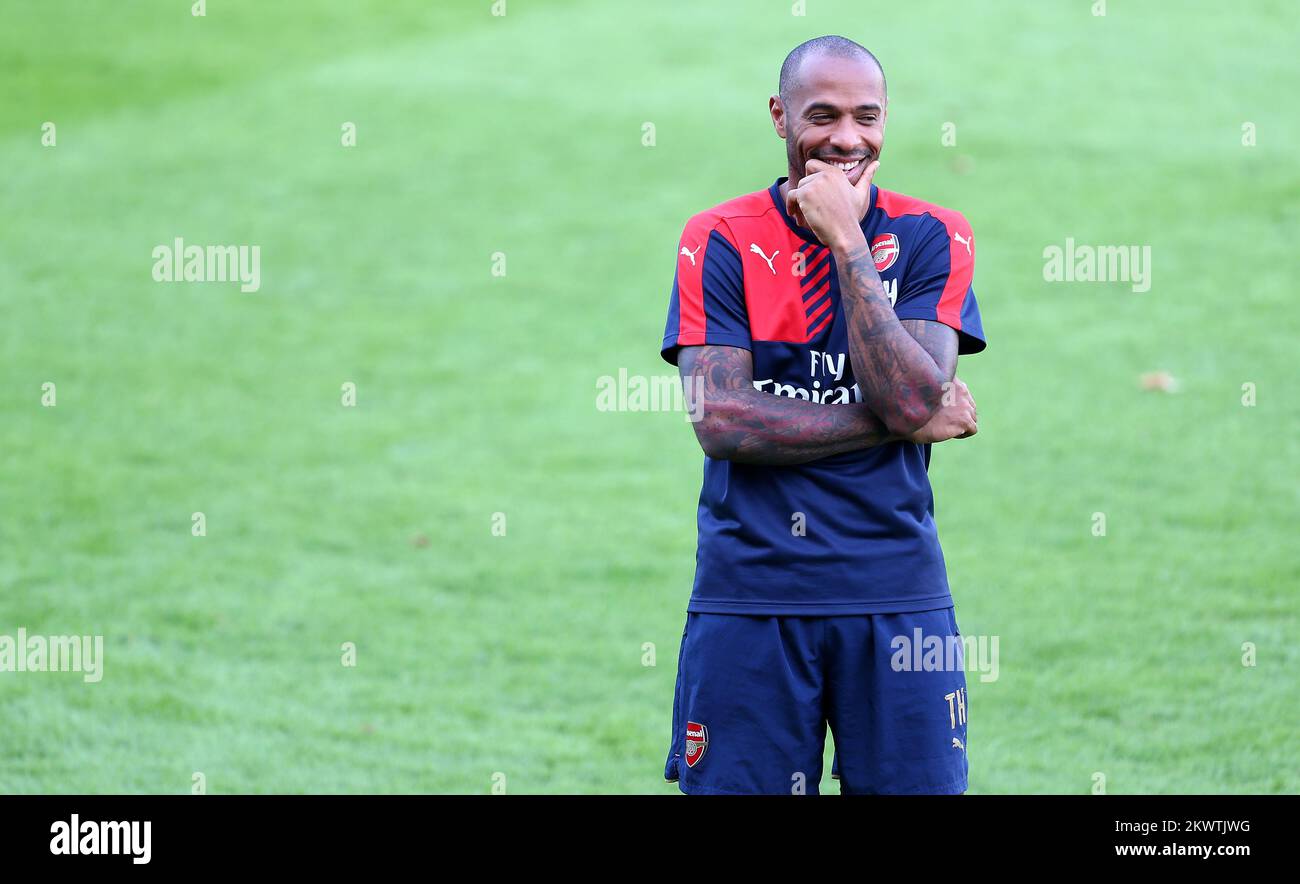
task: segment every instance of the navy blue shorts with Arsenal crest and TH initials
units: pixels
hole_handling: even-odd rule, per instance
[[[966,673],[953,608],[848,616],[688,614],[664,779],[690,794],[966,790]]]

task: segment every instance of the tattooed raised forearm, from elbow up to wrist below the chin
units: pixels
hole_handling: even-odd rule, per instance
[[[871,259],[871,248],[866,243],[842,256],[836,255],[836,263],[840,266],[840,296],[849,325],[849,359],[853,361],[853,376],[862,389],[862,398],[889,432],[907,436],[923,426],[940,408],[944,384],[953,374],[946,370],[946,365],[939,365],[928,348],[909,334],[894,316]],[[946,330],[952,334],[956,368],[957,333]],[[930,334],[937,338],[941,333]]]

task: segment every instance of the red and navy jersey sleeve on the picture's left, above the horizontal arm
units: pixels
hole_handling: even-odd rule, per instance
[[[740,250],[725,222],[697,216],[677,243],[677,272],[659,354],[677,364],[682,347],[723,344],[751,350]]]

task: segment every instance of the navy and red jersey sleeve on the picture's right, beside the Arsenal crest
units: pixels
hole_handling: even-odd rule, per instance
[[[959,212],[942,212],[907,265],[894,313],[901,320],[942,322],[957,330],[958,354],[978,354],[987,344],[974,276],[975,235]]]

